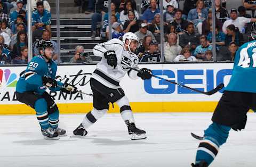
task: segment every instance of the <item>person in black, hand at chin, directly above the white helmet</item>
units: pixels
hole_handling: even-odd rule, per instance
[[[131,10],[128,12],[128,18],[129,20],[126,20],[124,23],[124,32],[137,32],[139,31],[139,20],[135,18],[134,11]]]

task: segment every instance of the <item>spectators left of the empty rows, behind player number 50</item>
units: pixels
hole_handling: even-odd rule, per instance
[[[45,0],[29,0],[31,3],[32,31],[34,40],[51,40],[51,7]],[[28,63],[27,1],[0,0],[0,64]],[[54,59],[57,60],[55,41]],[[34,43],[33,55],[38,55]]]

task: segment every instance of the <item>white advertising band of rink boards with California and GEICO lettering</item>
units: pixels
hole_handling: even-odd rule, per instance
[[[169,79],[180,84],[209,91],[224,83],[231,77],[232,63],[217,64],[143,64],[140,68],[148,68],[156,76]],[[0,68],[0,104],[19,104],[15,95],[15,86],[20,73],[26,66]],[[85,93],[92,93],[90,77],[95,65],[58,66],[57,80],[75,85]],[[132,80],[127,75],[120,84],[130,102],[172,102],[172,101],[218,101],[221,90],[212,96],[195,93],[170,82],[152,78],[150,80]],[[57,103],[91,103],[92,97],[83,94],[69,95],[61,92],[50,92]]]

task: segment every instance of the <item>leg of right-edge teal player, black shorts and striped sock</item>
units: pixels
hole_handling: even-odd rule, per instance
[[[251,94],[225,91],[212,116],[213,123],[204,131],[204,140],[198,146],[196,163],[192,166],[208,166],[226,143],[230,129],[245,128]]]

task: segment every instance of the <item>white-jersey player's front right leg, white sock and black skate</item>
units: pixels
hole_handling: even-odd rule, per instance
[[[122,89],[119,89],[120,92],[123,92]],[[123,93],[124,94],[124,93]],[[132,140],[137,140],[137,139],[145,139],[146,137],[146,131],[138,129],[135,126],[135,121],[132,113],[131,106],[129,104],[129,101],[126,96],[123,96],[122,98],[118,99],[116,101],[118,106],[120,107],[120,113],[121,116],[128,128],[129,135],[131,136]]]

